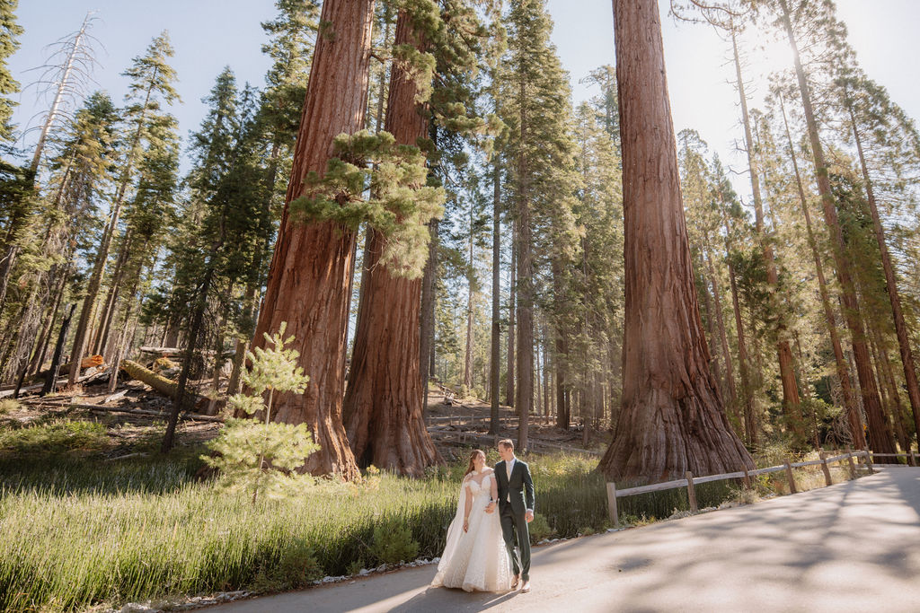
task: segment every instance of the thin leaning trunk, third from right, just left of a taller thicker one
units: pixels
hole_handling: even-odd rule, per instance
[[[846,423],[850,429],[850,437],[853,438],[853,445],[857,448],[864,448],[866,447],[866,437],[863,432],[862,417],[859,415],[856,394],[853,391],[853,382],[850,380],[850,369],[846,364],[844,349],[840,343],[840,334],[837,332],[837,318],[834,315],[834,306],[831,304],[831,297],[827,290],[827,279],[824,277],[824,265],[821,261],[821,254],[818,252],[818,240],[814,235],[814,230],[811,228],[811,213],[808,208],[808,198],[805,196],[805,187],[802,186],[799,161],[792,144],[792,135],[789,133],[789,124],[786,118],[786,105],[783,102],[782,96],[779,96],[779,108],[783,114],[786,140],[789,145],[789,157],[792,160],[792,169],[796,176],[796,187],[798,187],[799,190],[799,204],[801,205],[802,215],[805,218],[805,229],[808,233],[811,259],[814,262],[815,273],[818,277],[818,290],[821,295],[821,303],[824,309],[824,321],[827,323],[827,333],[831,337],[831,347],[834,351],[834,365],[837,371],[837,380],[840,381],[840,389],[844,396]]]

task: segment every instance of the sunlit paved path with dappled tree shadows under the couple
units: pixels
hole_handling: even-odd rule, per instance
[[[434,566],[231,603],[262,611],[920,611],[920,469],[535,549],[529,594]]]

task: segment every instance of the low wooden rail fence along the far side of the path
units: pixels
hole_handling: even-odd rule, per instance
[[[849,466],[850,478],[855,479],[857,475],[857,467],[856,467],[856,462],[854,462],[854,459],[858,459],[860,457],[865,458],[868,470],[869,472],[872,472],[873,471],[873,468],[872,468],[872,456],[873,455],[877,457],[900,456],[900,457],[909,458],[911,460],[915,458],[913,451],[911,451],[909,455],[904,454],[904,453],[901,453],[901,454],[875,453],[873,454],[873,453],[870,453],[868,450],[853,451],[851,449],[847,449],[845,453],[841,453],[839,455],[832,456],[830,458],[828,458],[822,451],[820,460],[810,460],[807,462],[794,462],[794,463],[790,463],[789,460],[786,460],[785,462],[783,462],[783,464],[779,466],[770,466],[768,468],[757,469],[755,471],[744,470],[740,472],[729,472],[726,474],[712,474],[712,475],[707,475],[705,477],[694,477],[692,472],[687,471],[684,479],[678,479],[676,481],[667,481],[667,482],[661,482],[661,483],[652,483],[650,485],[640,485],[638,487],[630,487],[630,488],[623,489],[623,490],[617,490],[615,483],[607,483],[607,505],[608,505],[608,510],[610,513],[610,521],[614,524],[616,528],[619,528],[620,520],[619,520],[619,516],[617,515],[617,511],[616,511],[616,499],[617,498],[624,498],[626,496],[635,496],[637,494],[649,494],[650,492],[662,492],[664,490],[672,490],[677,487],[685,487],[687,488],[687,500],[690,504],[690,510],[693,513],[696,513],[699,510],[698,505],[696,505],[696,485],[699,485],[700,483],[724,481],[726,479],[742,479],[744,482],[744,486],[749,488],[751,487],[751,477],[755,475],[767,474],[769,472],[786,471],[786,478],[789,483],[789,492],[791,494],[796,494],[798,492],[798,489],[796,488],[795,478],[792,475],[792,469],[802,468],[805,466],[819,466],[820,465],[822,468],[822,471],[824,472],[824,482],[827,485],[830,485],[831,484],[831,470],[828,467],[828,464],[846,460]]]

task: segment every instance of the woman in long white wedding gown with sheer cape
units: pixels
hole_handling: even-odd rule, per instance
[[[447,528],[447,545],[433,587],[460,587],[467,592],[507,592],[512,588],[511,559],[501,536],[495,471],[477,449],[460,487],[457,512]]]

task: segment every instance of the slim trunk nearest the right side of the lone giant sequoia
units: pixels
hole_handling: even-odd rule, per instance
[[[738,43],[735,40],[734,28],[731,29],[731,49],[735,62],[735,74],[738,79],[738,94],[742,104],[742,120],[744,124],[744,143],[747,150],[748,170],[751,173],[751,187],[753,190],[754,224],[757,230],[757,239],[760,241],[766,267],[766,281],[770,287],[776,289],[779,285],[779,276],[776,273],[776,261],[773,255],[773,245],[764,230],[764,203],[760,190],[760,176],[754,162],[754,143],[751,132],[751,118],[748,114],[747,95],[744,93],[744,79],[742,77],[742,62],[738,55]],[[779,304],[774,304],[779,309]],[[799,408],[799,387],[796,384],[795,370],[792,364],[792,349],[786,338],[786,324],[784,318],[779,316],[776,324],[776,355],[779,362],[779,379],[783,387],[783,414],[787,418],[787,427],[798,432],[801,427],[801,409]]]

